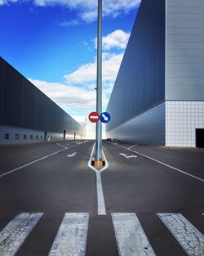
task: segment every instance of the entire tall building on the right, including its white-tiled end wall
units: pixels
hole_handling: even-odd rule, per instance
[[[204,146],[204,1],[142,0],[107,111],[107,137]]]

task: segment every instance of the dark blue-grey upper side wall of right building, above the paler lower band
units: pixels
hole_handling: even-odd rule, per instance
[[[107,111],[107,131],[165,99],[165,0],[143,0]]]

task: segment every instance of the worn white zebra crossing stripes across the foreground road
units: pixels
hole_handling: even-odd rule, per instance
[[[16,255],[43,214],[19,213],[11,219],[0,231],[0,255]],[[200,214],[204,218],[204,213]],[[204,255],[204,235],[199,227],[194,227],[181,213],[157,213],[157,216],[187,255]],[[157,255],[136,213],[111,213],[111,218],[120,256]],[[48,256],[85,256],[89,221],[89,213],[65,213]]]

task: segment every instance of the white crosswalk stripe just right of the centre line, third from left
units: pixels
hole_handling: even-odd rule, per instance
[[[156,256],[135,213],[111,213],[120,256]]]

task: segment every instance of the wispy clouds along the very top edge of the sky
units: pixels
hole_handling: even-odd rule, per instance
[[[0,0],[0,5],[9,2],[24,2],[25,0]],[[63,6],[70,10],[78,10],[78,16],[91,22],[97,17],[97,0],[27,0],[33,2],[36,6]],[[128,13],[140,5],[141,0],[104,0],[103,15],[113,18],[121,13]]]

